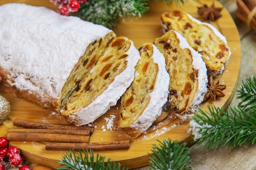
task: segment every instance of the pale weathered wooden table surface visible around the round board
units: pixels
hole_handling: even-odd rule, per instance
[[[256,73],[256,31],[249,29],[247,25],[239,21],[235,17],[236,2],[224,4],[224,7],[230,12],[231,16],[238,27],[241,40],[241,67],[239,85],[242,80]],[[231,106],[237,105],[238,100],[234,97]],[[191,153],[189,154],[191,163],[188,166],[193,170],[256,170],[256,145],[251,145],[249,148],[244,146],[233,150],[221,147],[219,150],[204,150],[204,144],[192,145]],[[35,165],[26,162],[31,168]],[[18,170],[7,166],[7,170]],[[34,168],[33,168],[34,169]],[[135,170],[148,170],[148,167],[137,168]]]

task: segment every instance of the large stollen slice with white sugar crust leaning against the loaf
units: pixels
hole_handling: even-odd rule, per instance
[[[132,83],[139,51],[131,40],[112,40],[92,70],[72,93],[61,114],[73,125],[85,125],[103,115]]]

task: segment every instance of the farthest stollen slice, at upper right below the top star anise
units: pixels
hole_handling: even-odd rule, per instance
[[[231,51],[227,40],[215,27],[201,22],[184,11],[168,11],[161,15],[165,32],[173,29],[186,38],[189,45],[202,54],[208,72],[217,76],[227,65]]]

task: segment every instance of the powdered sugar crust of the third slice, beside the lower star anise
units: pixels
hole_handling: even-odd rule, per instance
[[[174,30],[173,30],[174,31]],[[182,35],[180,35],[177,31],[174,31],[176,33],[177,38],[180,40],[180,47],[182,49],[189,49],[191,51],[191,55],[193,57],[193,67],[198,70],[198,90],[195,93],[195,97],[193,98],[193,101],[190,105],[190,108],[188,111],[190,112],[196,112],[197,107],[202,101],[204,100],[204,95],[207,93],[207,68],[205,66],[204,61],[202,60],[202,55],[199,54],[197,51],[195,51],[189,43],[186,41],[186,38],[184,38]],[[182,119],[189,119],[189,117],[184,117],[188,115],[179,115]]]

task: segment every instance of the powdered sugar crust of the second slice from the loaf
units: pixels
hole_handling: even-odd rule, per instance
[[[153,58],[154,63],[158,65],[157,77],[153,91],[149,94],[150,102],[145,108],[144,112],[139,118],[134,121],[130,128],[133,129],[133,133],[145,132],[155,121],[155,119],[161,114],[162,107],[167,101],[168,87],[170,82],[170,76],[165,69],[164,55],[153,45]]]

